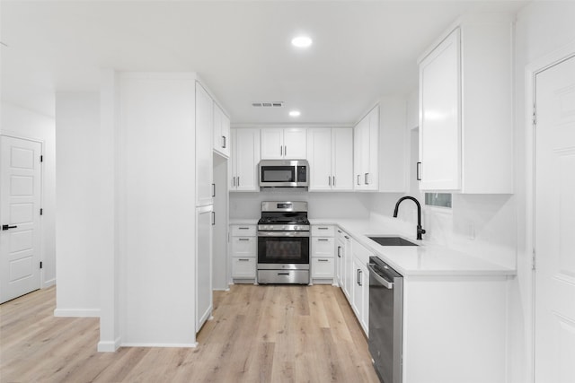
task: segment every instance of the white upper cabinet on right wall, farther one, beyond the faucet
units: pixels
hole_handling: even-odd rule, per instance
[[[407,190],[407,102],[381,98],[353,129],[353,187],[360,191]]]

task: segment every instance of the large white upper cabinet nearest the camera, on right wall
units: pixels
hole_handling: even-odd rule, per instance
[[[420,59],[421,190],[513,193],[512,22],[462,19]]]

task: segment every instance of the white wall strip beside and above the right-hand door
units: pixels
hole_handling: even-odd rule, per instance
[[[509,381],[526,382],[533,379],[532,365],[532,271],[531,248],[527,243],[528,178],[532,170],[526,154],[530,148],[530,127],[526,114],[526,66],[553,51],[575,43],[575,3],[569,1],[534,2],[517,14],[515,65],[515,142],[517,199],[517,279],[511,289]]]

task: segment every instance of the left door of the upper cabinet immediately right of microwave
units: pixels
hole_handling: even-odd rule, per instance
[[[351,140],[349,140],[351,145]],[[332,189],[332,129],[313,128],[307,131],[307,161],[310,167],[309,190]],[[351,161],[349,161],[351,166]]]

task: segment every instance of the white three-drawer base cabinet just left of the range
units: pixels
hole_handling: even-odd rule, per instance
[[[258,238],[255,225],[231,225],[232,279],[235,283],[255,282]]]

